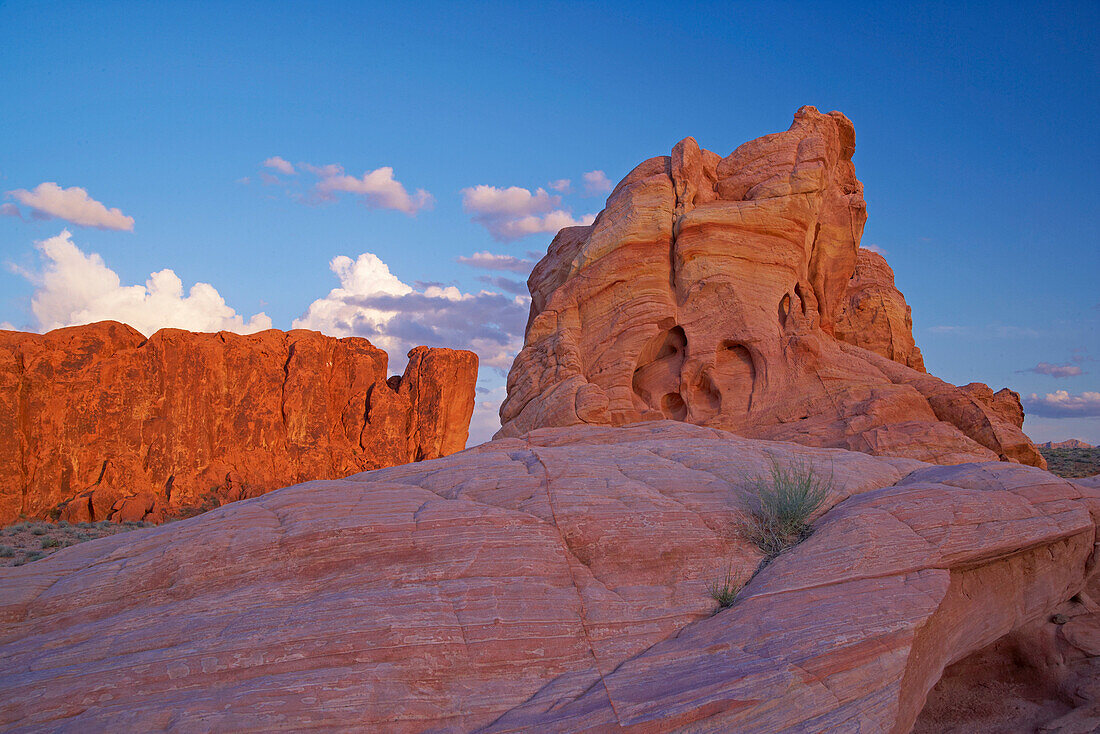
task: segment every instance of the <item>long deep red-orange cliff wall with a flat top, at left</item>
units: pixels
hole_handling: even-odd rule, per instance
[[[163,519],[461,451],[477,357],[418,347],[403,377],[365,339],[113,321],[0,331],[0,523]]]

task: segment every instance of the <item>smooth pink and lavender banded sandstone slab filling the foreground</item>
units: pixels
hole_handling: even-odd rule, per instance
[[[754,577],[772,457],[834,489]],[[1050,731],[1094,726],[1098,519],[1100,486],[1014,463],[541,429],[0,569],[0,728],[945,731],[945,667],[1022,642]]]

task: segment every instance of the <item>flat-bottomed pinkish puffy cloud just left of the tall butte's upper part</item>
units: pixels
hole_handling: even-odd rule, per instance
[[[591,224],[595,215],[574,219],[561,209],[561,197],[519,186],[497,188],[484,184],[462,189],[462,206],[494,239],[518,240],[538,232],[557,232],[564,227]]]

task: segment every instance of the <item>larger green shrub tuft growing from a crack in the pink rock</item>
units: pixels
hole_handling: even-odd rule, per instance
[[[774,558],[810,537],[810,517],[828,497],[833,476],[821,475],[810,462],[781,464],[772,457],[766,476],[747,482],[745,495],[749,539]]]

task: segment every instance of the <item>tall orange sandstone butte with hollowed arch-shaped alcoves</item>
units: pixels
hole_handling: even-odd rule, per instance
[[[528,280],[499,437],[671,418],[935,463],[1042,467],[1019,395],[924,372],[867,219],[839,112],[726,157],[688,138],[646,161]]]

